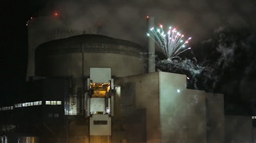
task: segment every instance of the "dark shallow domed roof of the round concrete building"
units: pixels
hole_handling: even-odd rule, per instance
[[[99,34],[81,34],[42,43],[36,48],[37,56],[74,52],[115,53],[138,56],[146,49],[137,43]]]

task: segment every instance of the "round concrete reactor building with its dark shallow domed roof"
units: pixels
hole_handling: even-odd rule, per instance
[[[89,77],[90,67],[111,68],[112,76],[146,73],[145,49],[131,41],[83,34],[43,43],[36,49],[35,75]]]

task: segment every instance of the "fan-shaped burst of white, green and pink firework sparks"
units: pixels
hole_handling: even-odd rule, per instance
[[[150,33],[152,33],[156,38],[152,37]],[[191,37],[187,40],[183,40],[184,35],[177,31],[177,29],[172,29],[172,27],[169,27],[167,32],[164,32],[162,25],[157,27],[157,29],[152,27],[150,28],[149,33],[147,33],[147,36],[157,43],[168,59],[178,57],[182,52],[191,49],[191,47],[187,47],[188,41],[191,40]]]

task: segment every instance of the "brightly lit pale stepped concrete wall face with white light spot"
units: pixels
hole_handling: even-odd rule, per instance
[[[205,92],[186,89],[186,75],[160,72],[161,142],[206,142]]]

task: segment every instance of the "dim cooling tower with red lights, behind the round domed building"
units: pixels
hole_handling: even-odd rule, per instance
[[[96,27],[76,27],[68,24],[61,15],[37,17],[28,24],[28,69],[26,79],[35,75],[35,49],[38,45],[51,40],[67,38],[79,34],[95,34]],[[85,25],[85,24],[84,24]]]

